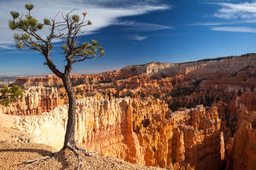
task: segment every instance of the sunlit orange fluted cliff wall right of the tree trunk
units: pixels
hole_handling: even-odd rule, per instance
[[[224,141],[217,108],[171,112],[161,100],[102,104],[90,106],[99,111],[95,115],[77,120],[81,147],[147,166],[209,169],[208,161],[213,163],[210,169],[222,166]]]

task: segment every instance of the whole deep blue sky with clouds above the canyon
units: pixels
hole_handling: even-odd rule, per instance
[[[24,4],[31,2],[35,5],[32,15],[41,21],[58,11],[87,11],[93,24],[85,27],[81,41],[97,39],[106,55],[75,64],[73,73],[96,74],[131,64],[187,62],[256,51],[256,1],[0,0],[0,75],[52,74],[41,54],[15,49],[14,32],[7,27],[9,11],[24,13]],[[60,70],[65,65],[61,45],[57,39],[52,52]]]

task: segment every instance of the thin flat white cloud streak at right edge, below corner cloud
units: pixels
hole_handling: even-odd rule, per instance
[[[212,27],[211,30],[212,31],[256,33],[256,28],[253,28],[253,27]]]

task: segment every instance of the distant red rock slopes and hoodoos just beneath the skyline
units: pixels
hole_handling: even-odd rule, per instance
[[[177,110],[198,104],[211,106],[219,101],[230,104],[237,96],[241,96],[244,101],[250,100],[246,104],[255,109],[255,58],[255,54],[251,54],[184,64],[153,62],[97,75],[74,74],[71,79],[77,98],[97,93],[110,98],[159,98],[165,100],[171,110]],[[58,88],[59,105],[67,103],[65,89],[56,76],[18,78],[15,84],[24,87],[53,86]]]

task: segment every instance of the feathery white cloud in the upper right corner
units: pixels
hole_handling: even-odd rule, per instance
[[[214,13],[214,17],[222,19],[251,19],[256,17],[256,3],[210,3],[222,8]]]

